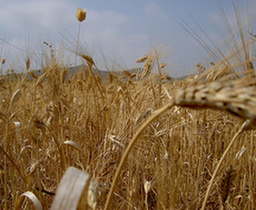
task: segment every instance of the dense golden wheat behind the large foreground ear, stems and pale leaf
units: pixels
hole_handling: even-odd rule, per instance
[[[75,166],[90,175],[97,209],[103,208],[119,160],[139,126],[170,102],[168,96],[180,96],[180,87],[192,90],[190,79],[162,83],[152,76],[134,80],[126,74],[103,81],[86,67],[82,71],[64,79],[65,67],[51,63],[37,79],[2,78],[2,207],[21,205],[21,194],[27,191],[49,207],[64,171]],[[201,207],[212,172],[243,121],[218,106],[188,105],[157,116],[138,136],[119,172],[112,198],[116,209]],[[236,209],[254,206],[254,136],[254,131],[243,132],[229,149],[208,208],[222,201]],[[229,166],[235,175],[225,175]]]

